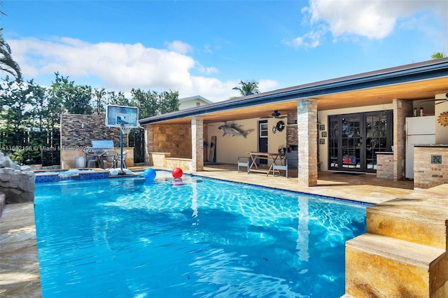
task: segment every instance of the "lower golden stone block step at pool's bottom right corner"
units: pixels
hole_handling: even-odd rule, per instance
[[[345,255],[346,297],[430,297],[448,286],[437,279],[448,269],[443,248],[366,233],[346,241]]]

